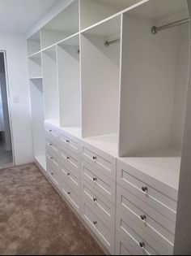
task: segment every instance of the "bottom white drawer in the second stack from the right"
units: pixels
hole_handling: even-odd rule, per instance
[[[110,254],[114,254],[115,228],[100,215],[95,214],[86,199],[83,200],[83,219],[100,239]]]

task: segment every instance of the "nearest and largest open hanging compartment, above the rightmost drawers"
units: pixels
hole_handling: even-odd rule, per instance
[[[152,0],[123,15],[119,154],[178,189],[189,74],[186,1]]]

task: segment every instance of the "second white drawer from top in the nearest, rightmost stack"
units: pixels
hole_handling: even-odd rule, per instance
[[[117,185],[117,207],[137,223],[146,233],[152,236],[155,241],[167,249],[169,254],[172,254],[174,235],[168,231],[170,229],[168,226],[172,227],[174,223],[165,219],[163,215],[156,214],[156,219],[163,223],[163,226],[161,226],[155,221],[155,215],[153,216],[154,218],[151,218],[150,214],[152,215],[152,211],[150,212],[150,207],[146,206],[138,197],[134,197],[133,194],[122,189],[119,185]]]

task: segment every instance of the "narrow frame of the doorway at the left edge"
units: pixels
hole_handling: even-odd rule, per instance
[[[9,113],[9,124],[10,124],[10,132],[11,132],[11,150],[12,150],[12,163],[8,163],[7,165],[0,167],[14,167],[15,166],[15,147],[14,147],[14,140],[13,140],[13,128],[12,128],[12,117],[11,117],[11,106],[10,106],[10,88],[9,88],[9,79],[8,79],[8,72],[7,72],[7,60],[6,60],[6,50],[1,50],[0,53],[3,54],[4,57],[4,65],[5,65],[5,76],[6,76],[6,98],[7,98],[7,105],[8,105],[8,113]]]

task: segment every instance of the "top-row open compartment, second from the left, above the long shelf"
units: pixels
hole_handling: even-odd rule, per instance
[[[53,46],[74,33],[79,33],[79,1],[72,2],[56,15],[40,29],[40,33],[42,49]]]

